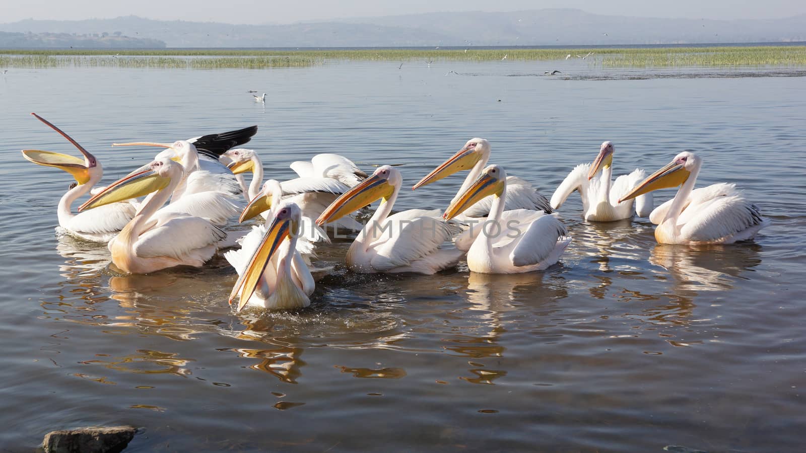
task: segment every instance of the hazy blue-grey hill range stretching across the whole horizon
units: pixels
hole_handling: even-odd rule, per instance
[[[552,9],[429,13],[268,25],[161,21],[127,16],[77,21],[28,19],[0,24],[0,31],[81,35],[118,32],[135,39],[156,39],[168,47],[688,44],[804,41],[806,15],[764,20],[653,19]]]

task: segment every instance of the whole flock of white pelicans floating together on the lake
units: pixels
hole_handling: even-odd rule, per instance
[[[588,222],[649,216],[659,243],[733,243],[752,239],[767,221],[733,184],[694,189],[702,161],[681,152],[646,177],[636,169],[612,180],[613,143],[602,143],[592,164],[574,168],[550,202],[528,181],[488,165],[490,143],[470,139],[463,148],[412,189],[467,170],[463,184],[444,213],[412,209],[394,213],[401,194],[400,170],[382,165],[372,174],[346,157],[319,154],[290,164],[297,178],[263,181],[254,150],[236,148],[250,141],[257,127],[180,139],[173,143],[131,142],[114,146],[164,148],[154,160],[106,187],[100,162],[69,135],[44,118],[81,152],[81,158],[23,150],[35,164],[61,168],[76,180],[61,197],[57,230],[81,239],[108,243],[111,261],[123,272],[148,273],[178,265],[200,267],[218,251],[239,274],[229,301],[237,309],[259,305],[292,309],[310,305],[310,271],[317,243],[330,242],[327,230],[357,233],[345,262],[354,272],[433,274],[465,258],[471,272],[531,272],[556,264],[571,238],[557,210],[578,191]],[[246,173],[251,172],[247,184]],[[651,192],[679,186],[678,193],[654,210]],[[89,200],[73,213],[78,198]],[[138,198],[142,197],[138,201]],[[369,221],[357,211],[379,201]],[[265,224],[251,231],[225,231],[259,215]]]

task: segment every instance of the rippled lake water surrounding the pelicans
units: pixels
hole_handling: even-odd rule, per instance
[[[118,424],[142,427],[127,451],[803,449],[806,79],[770,77],[803,69],[397,66],[10,69],[0,450]],[[542,76],[551,69],[568,78]],[[235,314],[235,272],[220,256],[123,276],[104,247],[56,239],[72,180],[19,150],[77,152],[30,112],[93,152],[106,183],[155,154],[112,142],[251,124],[247,146],[276,179],[293,176],[293,160],[337,152],[368,170],[405,163],[410,187],[480,136],[492,162],[546,196],[605,139],[616,174],[688,148],[704,157],[698,185],[737,182],[771,226],[753,243],[659,246],[646,219],[583,222],[575,196],[559,210],[573,242],[546,272],[357,275],[339,240],[319,249],[318,265],[335,268],[310,308]],[[406,190],[396,208],[444,209],[463,177]]]

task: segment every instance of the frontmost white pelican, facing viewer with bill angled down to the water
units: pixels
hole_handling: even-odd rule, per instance
[[[230,304],[236,296],[240,297],[238,310],[247,303],[268,309],[310,305],[308,297],[314,293],[314,277],[296,252],[300,218],[299,206],[283,203],[277,206],[272,224],[264,228],[263,235],[250,234],[248,242],[244,239],[242,250],[226,252],[224,256],[239,275],[229,297]]]

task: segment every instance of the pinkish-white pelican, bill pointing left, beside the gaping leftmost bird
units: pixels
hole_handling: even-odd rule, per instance
[[[200,267],[226,239],[226,232],[205,218],[160,210],[182,180],[182,172],[182,165],[173,160],[155,160],[106,187],[78,209],[156,191],[109,243],[112,262],[123,272],[148,273],[179,265]]]

